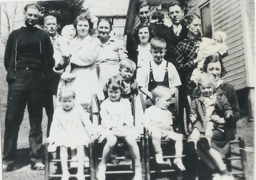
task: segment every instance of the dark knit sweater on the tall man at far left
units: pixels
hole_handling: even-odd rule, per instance
[[[23,33],[24,31],[26,31],[26,36],[24,36],[24,33]],[[39,41],[39,49],[40,49],[39,56],[35,55],[35,52],[37,52],[37,50],[39,49],[37,49],[37,47],[34,47],[33,44],[31,45],[31,48],[29,48],[28,44],[26,45],[27,52],[24,50],[24,48],[22,51],[20,51],[21,49],[18,48],[19,42],[26,42],[26,39],[30,39],[31,36],[29,36],[28,34],[31,34],[31,36],[33,37],[37,36]],[[31,50],[33,51],[33,53]],[[4,58],[4,65],[7,71],[7,76],[6,76],[7,82],[11,82],[16,79],[17,54],[19,55],[18,61],[21,60],[20,59],[21,54],[23,56],[22,61],[28,57],[31,57],[31,59],[33,58],[33,61],[28,61],[28,59],[26,60],[26,63],[28,64],[32,62],[38,62],[40,58],[42,61],[42,72],[45,73],[47,80],[50,81],[49,72],[54,66],[54,59],[52,58],[53,47],[51,44],[50,37],[48,36],[46,31],[43,31],[37,27],[32,27],[32,28],[30,27],[30,29],[29,27],[21,27],[11,32],[7,40],[7,44],[5,48],[5,58]],[[36,57],[38,59],[35,59]],[[20,66],[21,65],[19,65],[19,67]],[[21,68],[23,68],[23,65],[21,66]]]

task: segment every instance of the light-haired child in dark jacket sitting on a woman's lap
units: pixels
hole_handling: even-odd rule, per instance
[[[193,131],[188,139],[188,147],[195,152],[197,141],[200,139],[207,150],[210,149],[212,130],[217,128],[224,132],[223,125],[214,123],[211,116],[219,115],[225,121],[232,121],[232,108],[224,94],[216,93],[216,81],[214,76],[206,72],[200,74],[197,79],[197,88],[200,96],[195,96],[191,103],[190,119]],[[205,133],[205,136],[202,134]]]

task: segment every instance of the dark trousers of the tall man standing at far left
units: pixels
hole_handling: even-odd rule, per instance
[[[29,144],[32,166],[42,162],[42,104],[45,88],[43,72],[24,69],[17,70],[16,79],[9,83],[7,110],[5,115],[5,139],[3,164],[12,166],[17,149],[19,126],[28,105]]]

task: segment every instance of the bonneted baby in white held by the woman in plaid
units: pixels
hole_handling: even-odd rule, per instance
[[[197,62],[197,67],[194,69],[191,75],[191,81],[196,83],[198,76],[200,75],[203,69],[205,58],[209,55],[218,54],[222,58],[228,55],[228,46],[225,41],[227,35],[223,31],[217,31],[212,39],[203,37],[202,42],[200,43],[197,51],[197,58],[194,62]]]

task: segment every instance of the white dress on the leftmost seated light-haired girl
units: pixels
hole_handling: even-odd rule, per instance
[[[54,111],[47,140],[50,144],[54,142],[55,146],[74,149],[80,145],[88,145],[91,142],[89,135],[94,134],[94,129],[89,113],[84,112],[80,105],[74,105],[69,112],[59,106]]]

